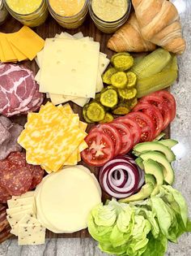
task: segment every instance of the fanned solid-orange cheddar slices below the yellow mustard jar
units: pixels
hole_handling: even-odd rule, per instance
[[[0,33],[0,60],[2,63],[32,60],[44,45],[45,41],[27,26],[16,33]]]

